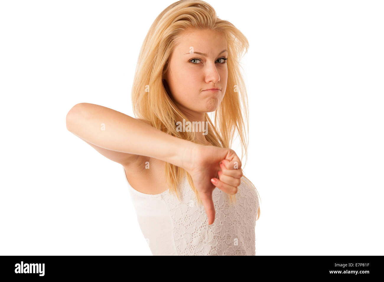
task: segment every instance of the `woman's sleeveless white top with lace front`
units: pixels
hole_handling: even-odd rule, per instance
[[[169,190],[150,195],[127,183],[139,226],[154,256],[255,256],[259,200],[246,178],[238,187],[237,203],[231,204],[227,193],[214,189],[216,214],[211,225],[186,177],[178,188],[180,201]]]

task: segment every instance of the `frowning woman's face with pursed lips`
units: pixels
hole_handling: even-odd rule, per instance
[[[188,30],[172,52],[165,74],[170,94],[185,114],[213,112],[227,87],[227,42],[212,30]],[[215,91],[206,89],[218,88]]]

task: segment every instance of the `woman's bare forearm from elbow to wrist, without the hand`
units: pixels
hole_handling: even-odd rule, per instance
[[[67,129],[101,148],[157,158],[184,167],[197,144],[107,107],[81,103],[67,114]]]

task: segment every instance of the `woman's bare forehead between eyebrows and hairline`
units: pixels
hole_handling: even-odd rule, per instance
[[[188,53],[190,47],[200,53],[217,56],[218,52],[227,49],[227,41],[224,34],[218,31],[186,30],[182,33],[178,44],[175,46],[175,53]]]

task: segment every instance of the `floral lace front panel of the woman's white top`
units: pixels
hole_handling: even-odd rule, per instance
[[[162,195],[180,256],[255,256],[259,201],[255,188],[246,181],[242,178],[234,203],[230,203],[225,192],[215,188],[212,196],[216,215],[210,226],[204,206],[197,203],[186,177],[180,185],[180,202],[169,193]]]

